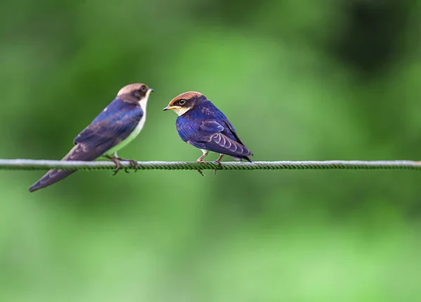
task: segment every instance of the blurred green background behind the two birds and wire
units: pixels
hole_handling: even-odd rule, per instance
[[[256,161],[420,159],[420,1],[2,1],[0,158],[60,159],[129,83],[122,157],[192,161],[201,91]],[[209,159],[218,155],[210,154]],[[421,173],[0,171],[0,301],[420,301]]]

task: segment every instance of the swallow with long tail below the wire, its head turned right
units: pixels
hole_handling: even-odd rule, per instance
[[[122,168],[122,160],[128,160],[137,169],[137,162],[122,159],[117,151],[142,130],[146,120],[147,100],[152,91],[145,84],[129,84],[121,88],[116,98],[76,136],[74,147],[62,160],[93,161],[98,157],[106,157],[116,164],[114,175]],[[57,183],[74,172],[50,170],[29,188],[29,192]]]

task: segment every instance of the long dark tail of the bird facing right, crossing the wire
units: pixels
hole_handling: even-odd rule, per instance
[[[63,161],[67,160],[82,160],[88,161],[95,159],[95,156],[91,152],[83,152],[83,144],[75,145],[72,150],[65,157],[62,158]],[[34,192],[36,190],[46,188],[48,185],[53,185],[58,181],[66,178],[67,176],[73,174],[76,170],[50,170],[46,175],[42,176],[31,188],[29,192]]]

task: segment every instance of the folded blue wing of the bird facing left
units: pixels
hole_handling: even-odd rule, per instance
[[[192,128],[189,123],[186,123],[182,126],[182,133],[184,136],[188,136],[185,137],[187,138],[185,141],[194,147],[240,157],[251,155],[246,146],[224,133],[227,129],[219,122],[206,120],[201,122],[198,129]]]

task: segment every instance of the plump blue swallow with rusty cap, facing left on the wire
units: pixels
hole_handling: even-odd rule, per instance
[[[209,151],[220,153],[215,161],[220,167],[224,155],[238,161],[246,159],[251,162],[250,155],[253,154],[240,140],[232,124],[203,94],[196,91],[182,93],[173,98],[163,110],[173,110],[178,114],[175,122],[178,135],[203,152],[196,162],[206,163],[203,158]],[[216,173],[215,170],[214,172]]]

